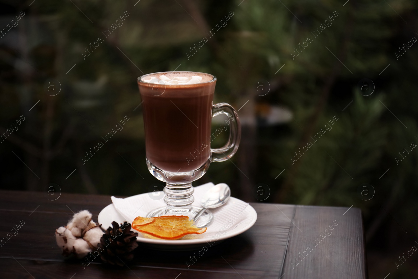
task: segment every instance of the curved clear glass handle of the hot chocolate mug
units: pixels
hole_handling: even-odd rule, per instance
[[[226,161],[232,156],[234,156],[235,152],[237,152],[238,146],[240,145],[240,141],[241,141],[241,125],[240,125],[240,119],[238,118],[237,111],[234,108],[232,108],[231,105],[224,103],[224,102],[213,105],[212,118],[222,113],[226,114],[228,117],[228,120],[225,120],[224,122],[225,123],[224,126],[230,127],[231,131],[229,132],[228,141],[223,147],[211,148],[211,151],[212,151],[211,162]],[[226,131],[226,129],[223,130],[222,128],[221,130]],[[216,131],[215,133],[217,134]]]

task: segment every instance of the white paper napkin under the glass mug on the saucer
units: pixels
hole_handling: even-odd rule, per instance
[[[196,207],[201,207],[201,198],[210,188],[214,186],[215,185],[212,182],[209,182],[201,186],[194,187],[193,205]],[[153,194],[148,194],[149,195],[136,195],[133,197],[127,197],[125,199],[113,196],[111,198],[116,211],[119,212],[120,215],[122,215],[123,218],[125,218],[129,223],[132,223],[136,217],[145,217],[151,210],[166,205],[163,198],[154,200],[151,198],[153,197]],[[157,194],[160,195],[159,197],[163,197],[164,195],[162,191],[159,191]],[[214,220],[212,224],[209,225],[206,232],[200,235],[186,235],[183,239],[213,237],[217,234],[223,235],[228,230],[235,228],[245,219],[247,216],[247,212],[245,212],[247,205],[248,204],[242,200],[229,199],[225,205],[210,209],[214,215]],[[217,238],[219,238],[218,235],[216,236]]]

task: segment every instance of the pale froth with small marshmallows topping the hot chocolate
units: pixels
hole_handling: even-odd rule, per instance
[[[211,81],[214,77],[197,72],[162,72],[141,77],[143,82],[167,85],[187,85]]]

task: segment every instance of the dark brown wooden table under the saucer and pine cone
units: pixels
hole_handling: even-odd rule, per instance
[[[162,252],[141,246],[129,268],[97,261],[83,269],[79,261],[61,256],[55,229],[83,209],[97,220],[110,197],[63,193],[51,201],[58,194],[0,191],[0,239],[24,222],[18,234],[0,247],[0,278],[367,277],[359,209],[260,203],[251,204],[258,219],[250,230],[212,246],[189,269],[186,262],[194,251]]]

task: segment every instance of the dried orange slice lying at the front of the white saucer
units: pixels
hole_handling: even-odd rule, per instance
[[[154,222],[145,219],[153,219]],[[207,228],[198,228],[194,225],[193,220],[189,221],[187,216],[160,216],[153,218],[137,217],[132,222],[132,228],[141,233],[162,238],[162,239],[179,239],[188,234],[201,234]]]

